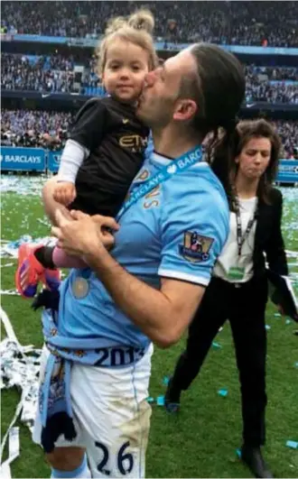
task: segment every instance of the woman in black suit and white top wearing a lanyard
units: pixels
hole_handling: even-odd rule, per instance
[[[213,278],[196,313],[165,396],[165,407],[180,408],[181,391],[200,372],[219,327],[228,319],[235,343],[241,384],[242,460],[256,477],[273,477],[265,465],[265,307],[269,267],[287,274],[281,232],[282,194],[272,187],[278,168],[280,140],[265,120],[237,125],[231,182],[230,234]],[[264,255],[265,253],[265,255]]]

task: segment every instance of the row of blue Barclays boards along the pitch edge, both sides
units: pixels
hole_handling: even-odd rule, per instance
[[[59,170],[62,152],[49,152],[42,148],[1,148],[1,170],[50,171]],[[298,161],[280,160],[277,182],[298,184]]]

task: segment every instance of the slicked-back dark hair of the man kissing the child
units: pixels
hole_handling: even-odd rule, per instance
[[[245,97],[244,69],[234,55],[217,45],[197,43],[191,47],[191,54],[197,61],[198,74],[191,83],[186,79],[184,85],[195,99],[198,110],[190,127],[203,137],[212,133],[206,150],[207,161],[231,198],[229,170],[233,144],[237,140],[236,117]],[[220,138],[219,128],[223,129]]]

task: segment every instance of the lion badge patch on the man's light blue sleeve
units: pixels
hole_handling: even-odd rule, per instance
[[[191,263],[207,261],[213,238],[199,235],[196,231],[185,231],[183,244],[179,245],[179,253]]]

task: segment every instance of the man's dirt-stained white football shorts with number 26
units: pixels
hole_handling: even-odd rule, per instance
[[[71,368],[70,394],[77,438],[69,442],[61,437],[56,447],[85,447],[92,477],[144,477],[151,417],[146,398],[153,351],[150,345],[136,364],[122,368],[79,363]],[[40,380],[48,355],[44,346]],[[37,411],[34,442],[40,444],[41,433]]]

